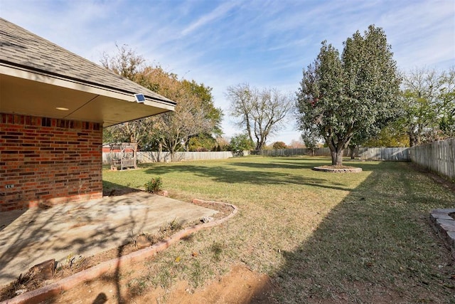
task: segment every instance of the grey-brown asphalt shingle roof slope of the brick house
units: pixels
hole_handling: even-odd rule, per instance
[[[164,96],[0,18],[1,63],[122,93],[142,93],[152,100],[175,104]]]

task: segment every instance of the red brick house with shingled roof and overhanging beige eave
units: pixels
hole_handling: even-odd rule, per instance
[[[174,106],[0,19],[0,211],[101,197],[102,127]]]

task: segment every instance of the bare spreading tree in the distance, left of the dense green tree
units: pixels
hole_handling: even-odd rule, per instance
[[[276,88],[259,90],[246,83],[228,87],[230,113],[237,117],[237,125],[245,129],[255,142],[255,149],[262,149],[269,135],[283,127],[284,119],[292,108],[293,98]]]

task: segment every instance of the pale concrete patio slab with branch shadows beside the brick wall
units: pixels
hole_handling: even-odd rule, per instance
[[[182,224],[217,211],[164,196],[135,192],[50,209],[0,214],[0,286],[33,265],[67,256],[92,256],[122,246],[141,233],[154,234],[176,219]]]

